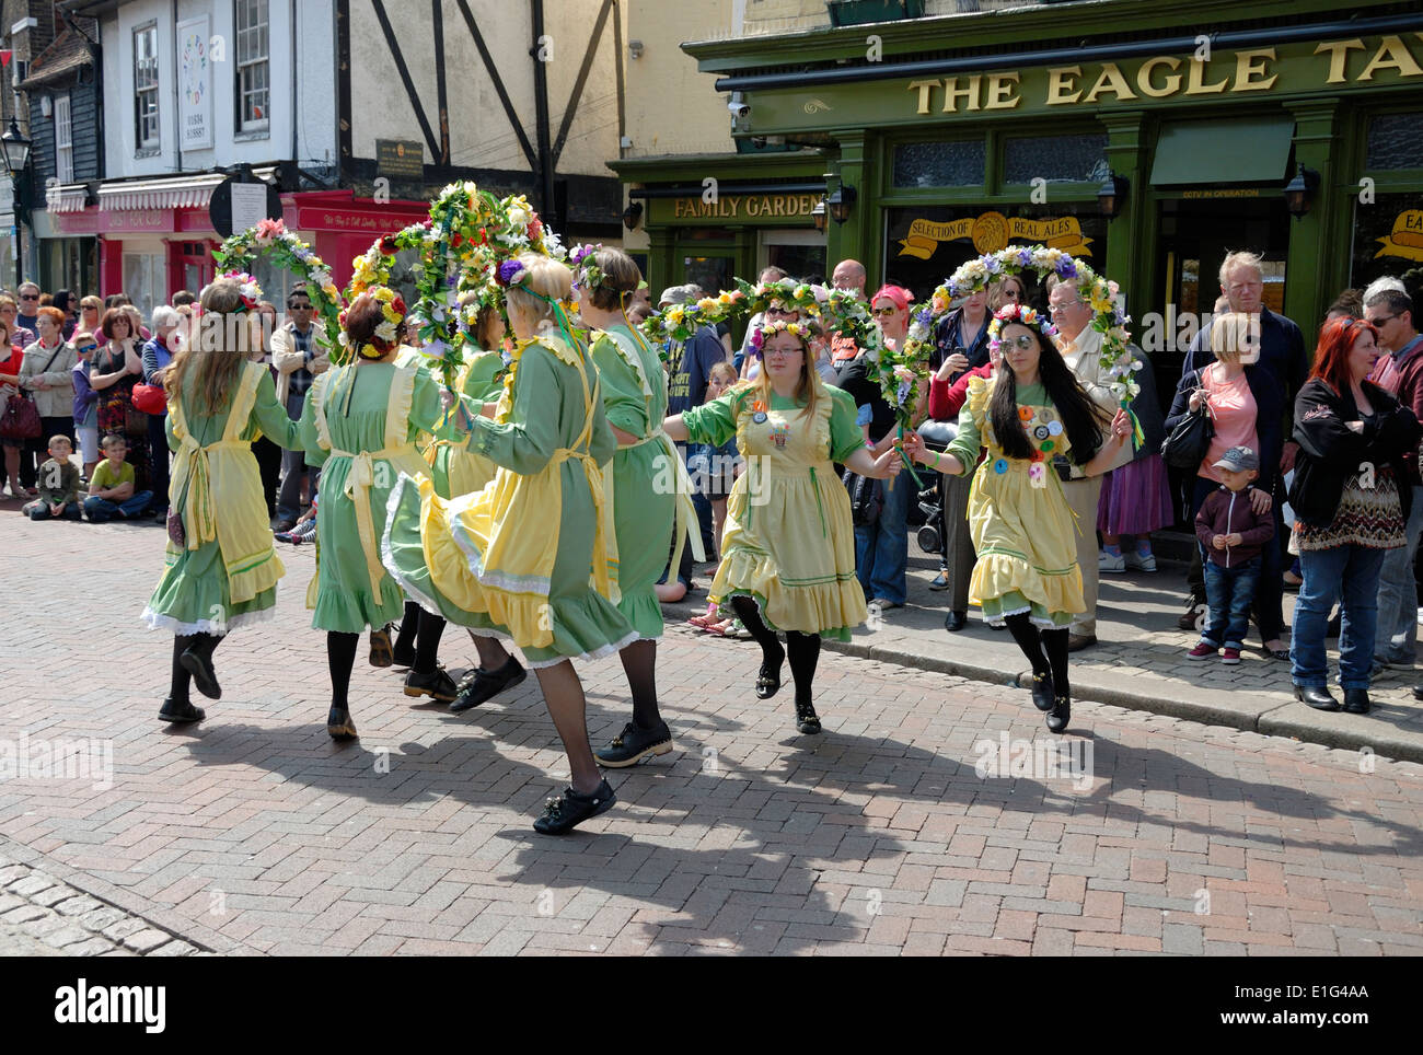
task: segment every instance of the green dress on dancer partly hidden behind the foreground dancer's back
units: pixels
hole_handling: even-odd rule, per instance
[[[626,326],[596,334],[591,353],[608,424],[638,437],[638,442],[618,448],[610,472],[603,469],[613,485],[613,533],[622,589],[618,607],[642,640],[655,641],[662,637],[662,604],[653,587],[667,566],[677,505],[673,485],[682,464],[662,431],[667,385],[657,353]]]

